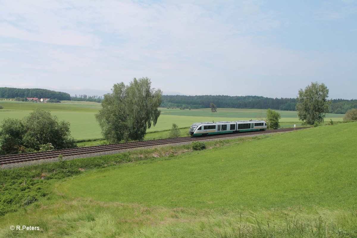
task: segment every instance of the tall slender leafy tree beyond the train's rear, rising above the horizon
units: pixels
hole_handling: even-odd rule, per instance
[[[328,113],[331,100],[327,100],[328,88],[324,83],[311,82],[311,85],[300,88],[296,98],[296,111],[298,118],[305,121],[308,125],[315,122],[323,122],[325,114]]]

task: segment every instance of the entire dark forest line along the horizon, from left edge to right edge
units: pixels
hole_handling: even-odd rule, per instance
[[[81,94],[71,97],[69,93],[56,92],[41,88],[8,88],[0,87],[0,98],[51,98],[57,100],[101,102],[103,96],[88,96]],[[295,111],[295,98],[270,98],[262,96],[224,96],[224,95],[162,95],[160,107],[166,108],[209,108],[214,103],[220,108],[247,108],[247,109],[274,109],[284,111]],[[330,113],[344,114],[348,110],[357,108],[357,100],[333,99]]]

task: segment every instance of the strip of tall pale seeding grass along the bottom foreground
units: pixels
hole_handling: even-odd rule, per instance
[[[211,210],[144,207],[137,204],[102,203],[52,194],[5,216],[0,236],[7,237],[240,237],[332,238],[357,235],[356,211],[316,209]],[[29,224],[40,231],[14,231]]]

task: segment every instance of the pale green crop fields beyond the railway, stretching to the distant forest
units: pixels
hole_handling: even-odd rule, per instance
[[[0,101],[4,109],[0,110],[0,122],[5,118],[23,118],[35,108],[50,110],[52,115],[60,120],[71,123],[71,134],[77,140],[99,139],[102,137],[101,129],[95,119],[95,113],[101,109],[97,102],[62,101],[61,103],[34,103],[34,102],[15,102]],[[160,108],[161,115],[156,126],[152,126],[148,133],[154,131],[170,130],[172,123],[178,127],[190,127],[193,123],[203,121],[237,121],[237,120],[256,120],[260,117],[265,118],[266,110],[260,109],[235,109],[217,108],[217,112],[212,113],[210,108],[206,109],[166,109]],[[300,126],[296,111],[279,111],[281,114],[281,127]],[[344,114],[327,114],[326,122],[342,121]],[[159,136],[160,137],[160,136]],[[159,138],[156,136],[156,138]],[[155,136],[154,136],[155,138]]]

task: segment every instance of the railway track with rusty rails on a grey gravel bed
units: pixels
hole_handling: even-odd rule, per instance
[[[72,148],[72,149],[64,149],[64,150],[6,155],[6,156],[0,156],[0,166],[5,165],[5,164],[11,164],[11,163],[35,161],[35,160],[39,160],[39,159],[57,158],[59,155],[62,155],[64,157],[66,157],[66,156],[80,156],[80,155],[105,152],[105,151],[126,150],[126,149],[137,148],[137,147],[165,145],[165,144],[171,144],[171,143],[200,141],[200,140],[216,139],[216,138],[217,139],[218,138],[230,138],[230,137],[237,137],[237,136],[241,136],[241,135],[242,136],[243,135],[260,135],[260,134],[265,134],[265,133],[287,132],[287,131],[301,130],[304,128],[308,128],[308,127],[277,129],[277,130],[269,130],[269,131],[261,131],[261,132],[244,132],[244,133],[225,134],[225,135],[208,136],[208,137],[190,137],[190,136],[188,136],[188,137],[171,138],[171,139],[128,142],[128,143],[120,143],[120,144],[105,145],[105,146],[90,146],[90,147]]]

